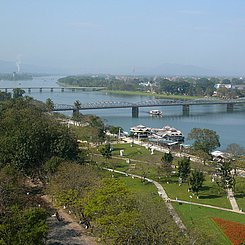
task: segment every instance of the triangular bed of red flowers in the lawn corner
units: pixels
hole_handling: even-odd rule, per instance
[[[245,242],[245,225],[220,218],[212,219],[223,230],[225,235],[231,240],[232,244],[239,245],[242,242]]]

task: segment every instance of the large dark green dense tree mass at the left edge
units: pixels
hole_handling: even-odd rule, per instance
[[[25,99],[11,100],[0,115],[0,163],[28,175],[37,173],[52,156],[76,159],[76,138],[69,129]]]

